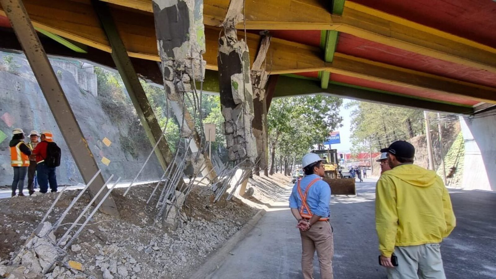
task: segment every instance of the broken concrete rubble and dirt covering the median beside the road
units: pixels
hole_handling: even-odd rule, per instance
[[[140,195],[119,200],[133,204],[129,209],[121,208],[124,217],[96,213],[65,251],[62,247],[74,232],[62,241],[61,236],[77,212],[67,217],[67,223],[60,225],[58,230],[47,221],[40,223],[33,233],[33,229],[23,229],[26,222],[12,222],[13,218],[9,217],[10,226],[4,226],[4,229],[19,231],[17,247],[22,248],[19,251],[14,247],[10,252],[11,259],[0,263],[0,278],[187,278],[190,271],[236,233],[256,211],[235,202],[210,205],[207,202],[210,190],[196,188],[186,201],[186,210],[179,212],[182,216],[180,226],[176,229],[163,227],[154,223],[155,206],[147,206],[146,199],[140,197],[150,193],[153,186],[137,187],[133,190]],[[64,196],[62,203],[75,195]],[[50,204],[46,201],[37,209],[45,211]],[[86,201],[79,201],[73,209],[82,209],[85,204]],[[2,204],[11,208],[9,205]],[[14,214],[19,212],[16,208],[9,210]],[[56,208],[54,212],[60,210]],[[23,214],[33,214],[36,218],[44,215],[37,210],[27,210]],[[59,214],[50,215],[47,220],[54,222]],[[24,227],[21,229],[21,226]]]

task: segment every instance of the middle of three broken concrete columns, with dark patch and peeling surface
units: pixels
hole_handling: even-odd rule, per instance
[[[224,116],[229,160],[250,168],[257,157],[256,140],[251,131],[253,90],[249,71],[249,53],[245,40],[238,40],[236,24],[243,20],[243,0],[231,0],[223,35],[219,38],[219,91]]]

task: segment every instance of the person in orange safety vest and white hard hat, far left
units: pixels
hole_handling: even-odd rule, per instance
[[[8,146],[10,147],[10,165],[14,169],[14,179],[12,181],[12,197],[15,196],[15,192],[19,189],[19,197],[23,197],[24,193],[24,179],[26,178],[26,173],[29,166],[29,155],[31,155],[31,150],[24,143],[24,131],[19,128],[15,128],[12,131],[12,139]]]

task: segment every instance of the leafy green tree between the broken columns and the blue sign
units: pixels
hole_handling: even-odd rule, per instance
[[[267,115],[270,173],[274,172],[276,155],[291,163],[300,160],[314,144],[322,143],[329,132],[341,127],[341,104],[342,99],[324,95],[273,100]]]

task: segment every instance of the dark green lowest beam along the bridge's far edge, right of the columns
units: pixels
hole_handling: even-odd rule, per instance
[[[322,89],[318,82],[289,76],[279,76],[274,92],[274,98],[302,96],[310,94],[329,94],[342,98],[350,98],[367,102],[409,107],[422,110],[445,113],[465,114],[473,113],[472,107],[448,104],[431,99],[412,98],[397,93],[374,90],[366,87],[338,84],[330,82],[327,89]]]

